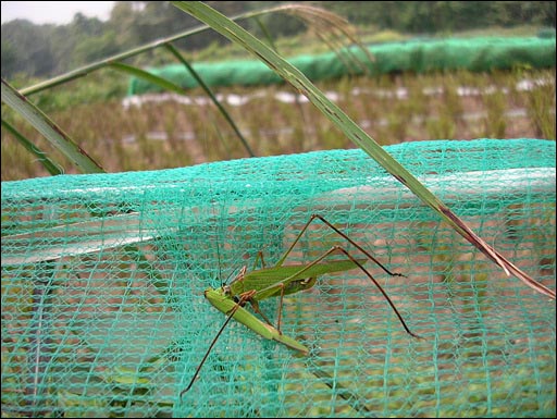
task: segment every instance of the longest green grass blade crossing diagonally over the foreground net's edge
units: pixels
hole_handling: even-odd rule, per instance
[[[555,299],[555,292],[534,281],[525,272],[505,259],[462,220],[443,204],[433,193],[423,186],[408,170],[396,161],[383,147],[371,138],[358,124],[346,115],[335,103],[329,100],[298,69],[288,63],[272,49],[255,38],[239,25],[200,1],[173,1],[182,11],[211,26],[214,30],[243,46],[257,56],[269,67],[306,96],[333,124],[346,134],[355,144],[368,152],[387,172],[407,186],[424,204],[433,208],[456,232],[469,241],[491,260],[502,267],[507,274],[513,274],[528,286]]]

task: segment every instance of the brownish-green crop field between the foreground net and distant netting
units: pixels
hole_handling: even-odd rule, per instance
[[[555,139],[555,69],[517,69],[347,77],[318,87],[382,145],[482,137]],[[72,85],[62,88],[71,91]],[[356,147],[286,85],[214,93],[256,156]],[[108,172],[248,157],[200,89],[187,97],[147,95],[48,113]],[[33,128],[17,126],[64,161]],[[2,131],[2,181],[45,175],[39,162]]]

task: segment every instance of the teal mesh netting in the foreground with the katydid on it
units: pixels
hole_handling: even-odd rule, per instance
[[[555,289],[555,141],[385,148]],[[231,321],[180,397],[225,320],[203,291],[276,263],[312,213],[406,275],[366,263],[423,338],[361,270],[323,274],[283,301],[309,355]],[[285,264],[334,245],[362,259],[315,221]],[[555,301],[361,150],[4,182],[2,416],[555,417]]]

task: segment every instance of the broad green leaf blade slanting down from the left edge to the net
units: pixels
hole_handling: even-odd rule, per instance
[[[62,128],[52,122],[25,96],[2,78],[2,102],[21,113],[35,130],[41,133],[55,148],[60,149],[83,173],[103,173],[104,170],[85,150],[75,144]]]

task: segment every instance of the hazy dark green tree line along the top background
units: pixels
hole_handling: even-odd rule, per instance
[[[227,16],[285,1],[207,1]],[[349,22],[405,34],[450,33],[490,26],[531,24],[555,27],[555,1],[311,1]],[[305,26],[288,14],[260,19],[273,36],[292,36]],[[2,77],[17,73],[50,77],[133,47],[198,26],[200,23],[168,1],[116,1],[110,20],[75,14],[66,25],[35,25],[26,20],[2,24]],[[257,22],[246,27],[261,35]],[[183,50],[225,42],[207,32],[176,46]],[[147,57],[149,59],[149,57]]]

